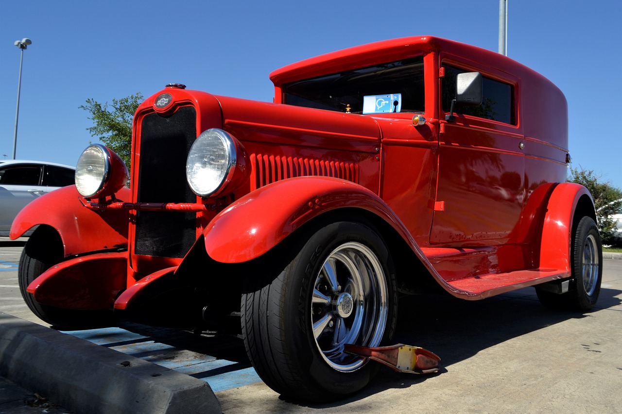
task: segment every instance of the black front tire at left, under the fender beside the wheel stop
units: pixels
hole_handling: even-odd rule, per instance
[[[39,226],[26,242],[17,270],[19,290],[26,305],[38,318],[63,331],[101,328],[114,323],[112,310],[74,310],[42,305],[26,288],[45,270],[63,260],[63,244],[58,233],[49,226]]]

